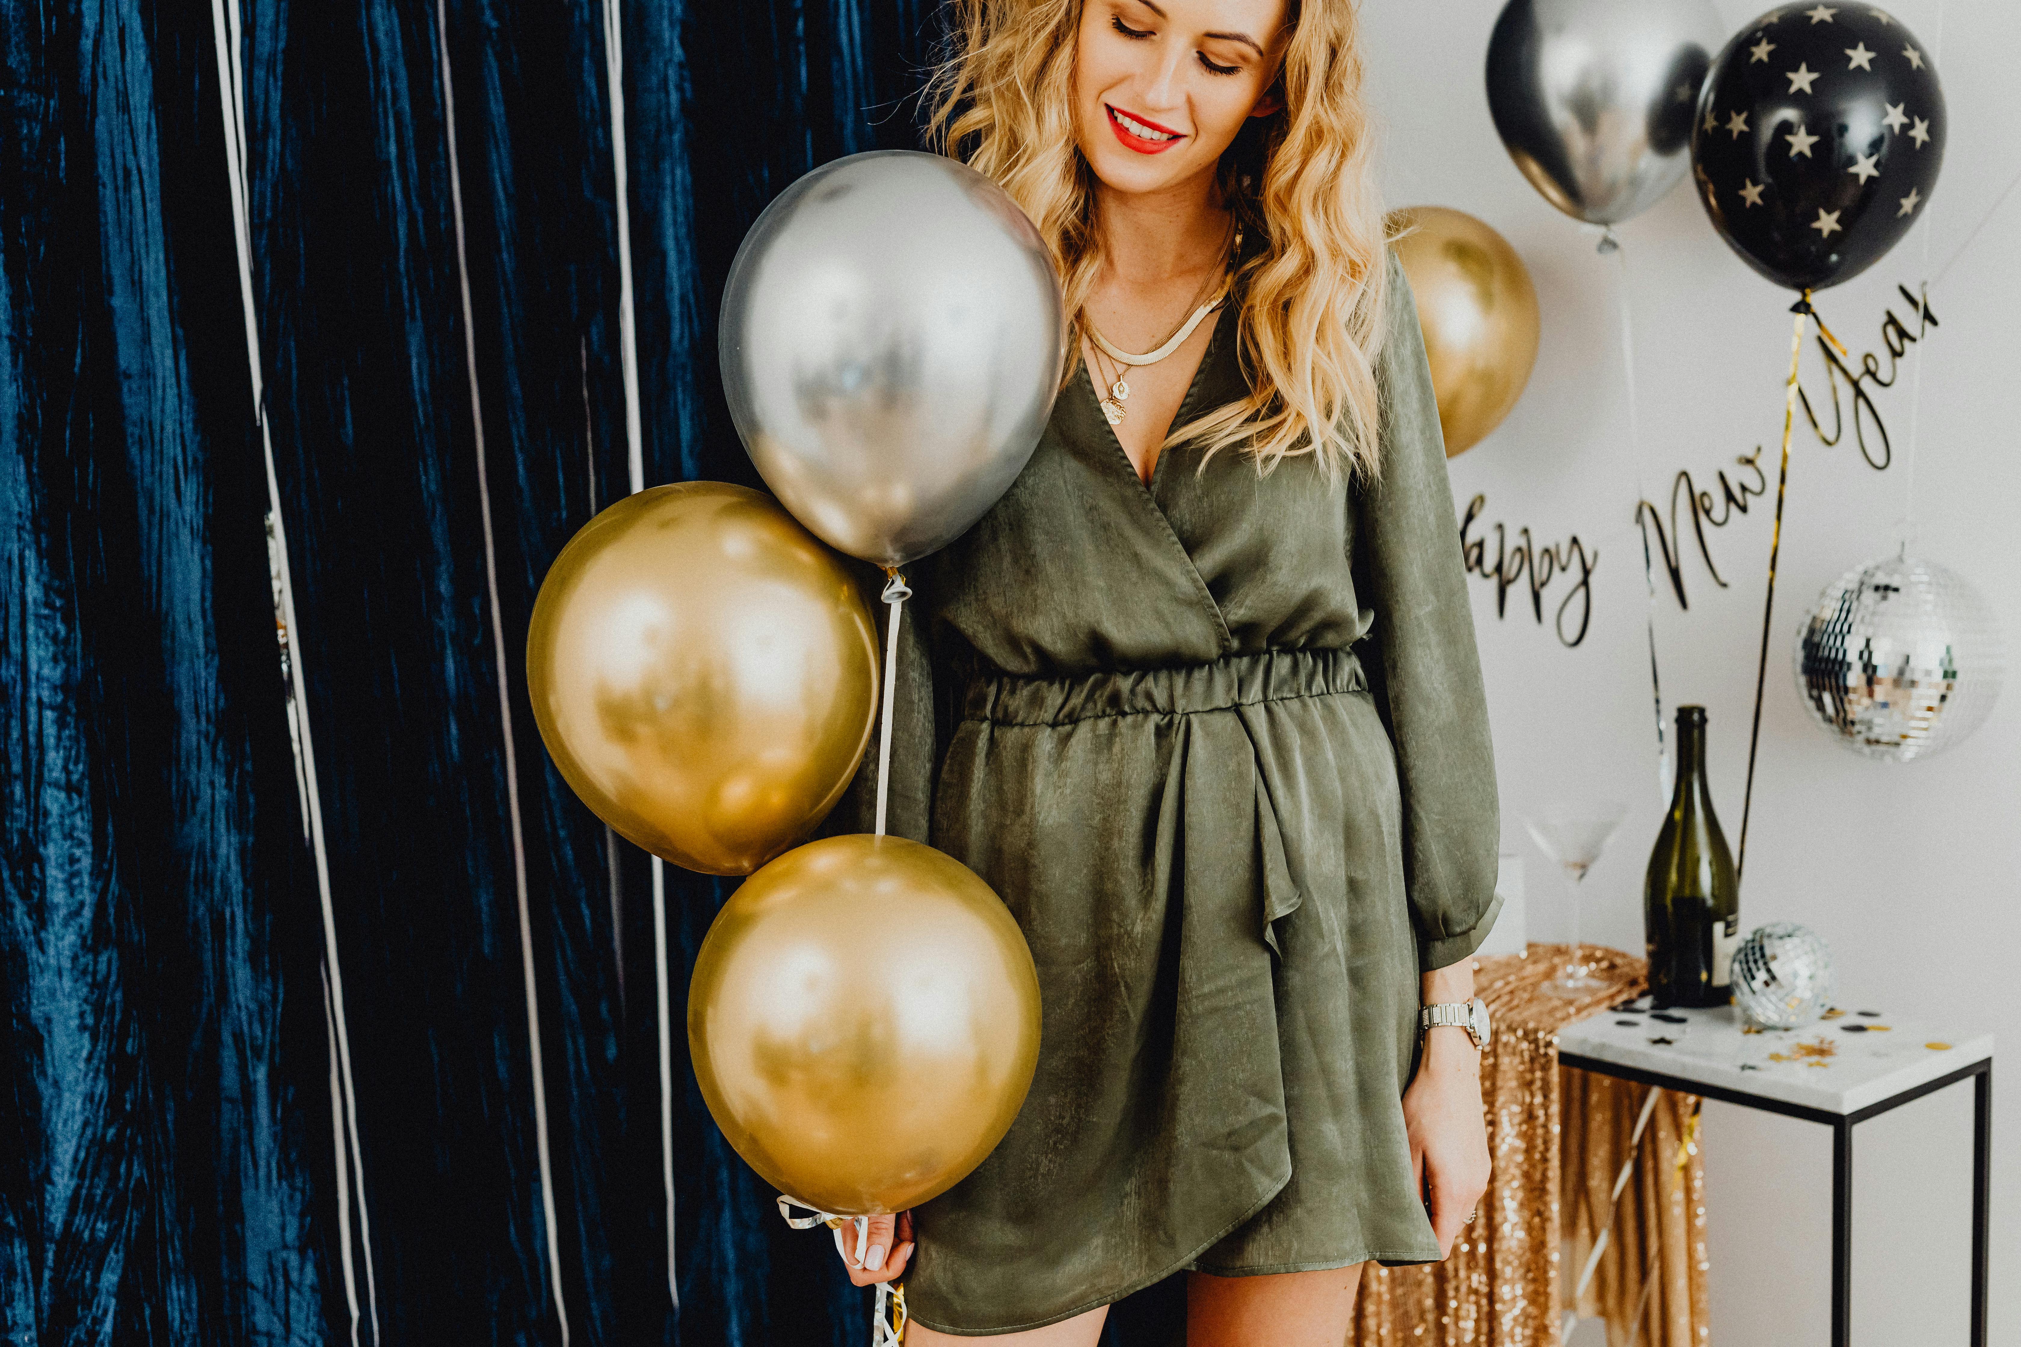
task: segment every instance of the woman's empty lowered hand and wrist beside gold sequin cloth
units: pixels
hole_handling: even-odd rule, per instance
[[[1425,1004],[1473,1000],[1473,961],[1425,973]],[[1487,1111],[1481,1107],[1481,1052],[1467,1030],[1439,1026],[1425,1034],[1417,1076],[1403,1093],[1411,1137],[1411,1173],[1425,1194],[1439,1256],[1453,1252],[1459,1228],[1473,1220],[1487,1191]]]

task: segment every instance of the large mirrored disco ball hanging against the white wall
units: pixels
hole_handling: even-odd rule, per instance
[[[1940,753],[2001,695],[2007,652],[1993,612],[1936,561],[1904,553],[1845,572],[1797,636],[1803,703],[1867,757]]]

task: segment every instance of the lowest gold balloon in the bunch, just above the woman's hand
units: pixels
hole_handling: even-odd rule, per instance
[[[823,838],[744,880],[695,955],[687,1046],[752,1169],[839,1216],[954,1187],[1039,1062],[1039,975],[1002,901],[905,838]]]

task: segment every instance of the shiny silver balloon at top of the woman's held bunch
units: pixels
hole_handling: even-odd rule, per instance
[[[885,149],[806,174],[730,267],[724,392],[780,503],[903,565],[1010,487],[1059,388],[1059,281],[1031,220],[954,160]]]

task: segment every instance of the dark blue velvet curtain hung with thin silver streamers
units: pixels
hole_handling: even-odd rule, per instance
[[[629,489],[612,99],[645,481],[752,483],[730,258],[810,166],[913,143],[934,4],[236,8],[0,10],[6,1341],[861,1343],[701,1107],[726,887],[667,868],[675,1305],[649,862],[519,652]]]

